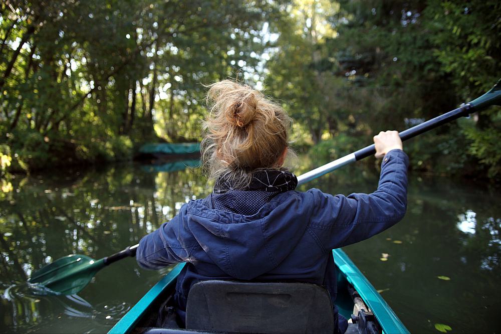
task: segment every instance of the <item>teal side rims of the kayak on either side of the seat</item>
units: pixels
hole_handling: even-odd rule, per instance
[[[400,321],[391,307],[376,291],[362,272],[341,249],[332,251],[334,261],[338,267],[338,295],[336,306],[339,313],[350,319],[356,301],[355,294],[361,297],[365,305],[374,314],[384,333],[408,333],[409,331]],[[184,263],[174,266],[171,271],[156,283],[116,324],[108,333],[119,334],[131,332],[136,327],[143,327],[156,318],[158,309],[167,298],[174,293],[177,276]]]

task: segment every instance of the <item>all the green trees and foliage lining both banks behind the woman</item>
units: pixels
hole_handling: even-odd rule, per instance
[[[0,179],[199,141],[204,84],[228,77],[282,103],[293,147],[329,161],[488,90],[499,13],[495,0],[3,2]],[[413,171],[496,183],[499,138],[496,106],[404,147]]]

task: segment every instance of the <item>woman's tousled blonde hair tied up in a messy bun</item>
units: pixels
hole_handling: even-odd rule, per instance
[[[280,168],[291,118],[261,92],[232,80],[209,86],[202,165],[209,179],[247,185],[256,170]],[[294,154],[288,150],[288,154]]]

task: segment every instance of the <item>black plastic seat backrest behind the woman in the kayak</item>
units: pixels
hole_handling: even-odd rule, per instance
[[[309,283],[207,280],[194,284],[186,328],[240,333],[333,333],[329,292]]]

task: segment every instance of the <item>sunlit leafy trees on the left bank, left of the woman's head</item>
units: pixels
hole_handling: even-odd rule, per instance
[[[275,4],[21,0],[0,12],[0,143],[30,169],[200,135],[204,87],[254,73]]]

